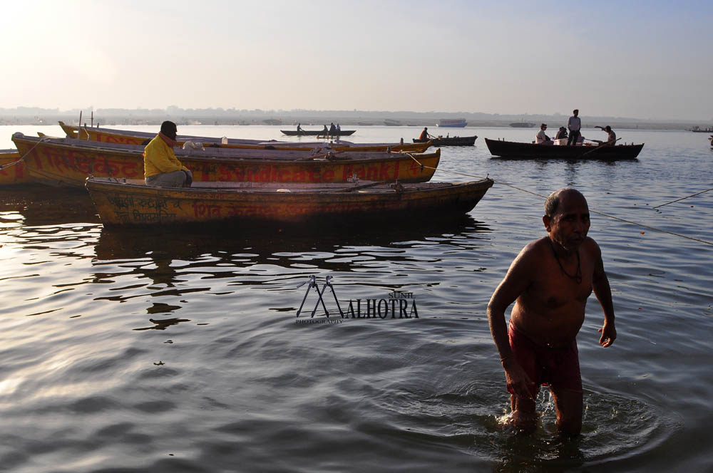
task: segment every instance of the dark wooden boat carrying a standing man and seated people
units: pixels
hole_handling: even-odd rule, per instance
[[[633,160],[644,144],[616,146],[535,145],[503,140],[488,140],[491,155],[517,160]]]

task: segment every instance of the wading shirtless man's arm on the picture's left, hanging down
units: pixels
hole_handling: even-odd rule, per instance
[[[508,274],[493,292],[493,296],[491,296],[491,300],[488,303],[488,324],[490,325],[493,341],[495,341],[498,353],[500,353],[508,390],[521,397],[531,397],[528,386],[532,384],[532,381],[513,358],[508,338],[508,326],[505,322],[505,311],[530,285],[531,273],[529,268],[531,266],[528,261],[530,260],[532,245],[529,244],[520,251],[520,254],[508,269]]]

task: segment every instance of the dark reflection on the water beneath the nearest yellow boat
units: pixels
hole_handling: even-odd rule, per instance
[[[88,200],[88,199],[87,199]],[[265,224],[260,226],[240,226],[232,228],[230,238],[222,232],[215,232],[212,227],[183,227],[181,232],[171,233],[166,238],[166,230],[152,227],[102,227],[94,254],[98,261],[117,259],[150,259],[156,266],[170,269],[170,262],[180,254],[181,259],[206,269],[205,255],[217,259],[212,264],[216,272],[225,274],[225,266],[245,268],[252,264],[269,264],[292,267],[294,259],[303,259],[306,254],[315,251],[334,251],[335,248],[364,247],[370,251],[373,259],[393,261],[399,255],[389,253],[380,256],[373,252],[375,246],[389,247],[394,244],[399,248],[433,244],[434,239],[453,241],[456,244],[473,243],[477,239],[463,239],[472,234],[488,234],[491,228],[473,219],[469,214],[434,216],[429,219],[404,219],[398,227],[384,229],[381,226],[364,225],[363,222],[343,219],[330,222],[329,225],[289,226]],[[317,244],[317,246],[315,246]],[[324,249],[324,250],[322,250]],[[411,258],[408,253],[404,259]],[[160,261],[164,261],[161,264]],[[324,259],[319,257],[311,264],[321,269],[334,271],[354,271],[352,261],[348,259]],[[95,266],[101,266],[95,263]],[[131,265],[133,271],[155,273],[151,265]],[[173,267],[175,272],[176,267]],[[309,269],[312,271],[312,268]],[[112,275],[108,274],[110,278]],[[164,284],[176,282],[162,278]],[[255,281],[260,284],[260,281]],[[270,279],[266,284],[274,284]]]

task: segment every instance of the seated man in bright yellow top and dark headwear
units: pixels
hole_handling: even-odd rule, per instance
[[[143,150],[143,176],[153,187],[190,187],[193,173],[173,152],[178,128],[173,122],[161,123],[161,131]]]

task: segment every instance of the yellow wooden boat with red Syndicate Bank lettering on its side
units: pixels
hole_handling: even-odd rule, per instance
[[[143,146],[116,145],[71,138],[29,137],[12,140],[25,158],[32,180],[79,187],[88,175],[143,178]],[[441,150],[411,155],[402,152],[337,152],[310,150],[176,150],[176,157],[196,181],[347,182],[361,180],[427,182]]]

